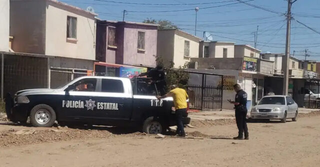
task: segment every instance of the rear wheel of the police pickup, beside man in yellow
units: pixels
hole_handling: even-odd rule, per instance
[[[162,124],[154,117],[149,117],[143,122],[142,131],[146,134],[160,134],[162,133],[162,130]]]

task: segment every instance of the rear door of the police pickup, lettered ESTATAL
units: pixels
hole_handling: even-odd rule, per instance
[[[96,92],[96,112],[98,120],[129,120],[132,112],[132,91],[130,81],[124,87],[119,79],[100,79],[100,88]]]

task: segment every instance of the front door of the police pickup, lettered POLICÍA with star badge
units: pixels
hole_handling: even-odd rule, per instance
[[[59,105],[62,120],[83,120],[96,111],[96,78],[84,78],[73,83],[75,89],[65,92]],[[55,99],[52,99],[55,100]]]

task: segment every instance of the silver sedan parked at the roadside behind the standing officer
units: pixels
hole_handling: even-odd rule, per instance
[[[250,112],[251,119],[277,119],[282,123],[286,119],[296,121],[297,116],[298,105],[289,96],[264,96]]]

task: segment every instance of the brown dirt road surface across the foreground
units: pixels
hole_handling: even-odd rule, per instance
[[[297,122],[248,123],[250,140],[242,141],[231,139],[234,120],[192,120],[198,128],[186,128],[188,136],[203,139],[0,122],[0,167],[318,167],[319,120],[320,112],[312,112]]]

